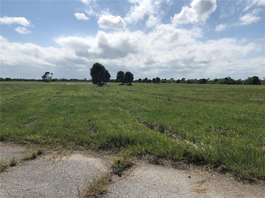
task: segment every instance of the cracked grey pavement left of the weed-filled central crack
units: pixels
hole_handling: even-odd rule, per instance
[[[1,160],[8,158],[11,150],[12,147],[1,144]],[[23,154],[20,147],[14,151],[20,156]],[[108,162],[82,154],[57,161],[38,156],[1,173],[1,197],[77,197],[79,187],[107,170]]]

